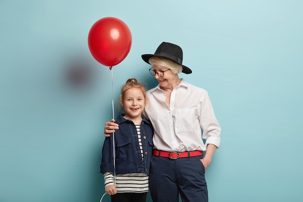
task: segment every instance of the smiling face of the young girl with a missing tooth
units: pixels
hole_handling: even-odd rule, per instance
[[[132,120],[134,123],[141,120],[141,113],[145,106],[145,97],[138,88],[130,88],[124,92],[121,105],[125,109],[125,119]]]

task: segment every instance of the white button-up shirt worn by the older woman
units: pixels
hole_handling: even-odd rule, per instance
[[[170,107],[160,85],[149,90],[147,97],[144,115],[154,128],[155,149],[167,152],[206,151],[207,144],[220,146],[221,127],[206,90],[182,79],[171,92]],[[206,140],[205,144],[202,138]]]

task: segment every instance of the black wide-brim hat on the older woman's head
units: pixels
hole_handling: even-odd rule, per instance
[[[191,74],[192,70],[188,68],[187,66],[182,64],[183,60],[183,52],[182,48],[171,43],[162,42],[160,46],[157,48],[156,52],[154,54],[144,54],[141,56],[144,62],[147,62],[150,64],[149,59],[151,57],[161,57],[168,60],[171,60],[172,62],[176,62],[178,64],[182,65],[182,72],[185,74]]]

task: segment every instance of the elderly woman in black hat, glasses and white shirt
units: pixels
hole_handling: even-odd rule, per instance
[[[178,76],[192,73],[182,58],[181,47],[166,42],[154,54],[142,55],[159,82],[147,92],[145,107],[154,128],[149,177],[153,202],[178,202],[179,194],[182,202],[207,202],[205,171],[221,142],[207,91]],[[107,122],[105,134],[115,129],[118,124]]]

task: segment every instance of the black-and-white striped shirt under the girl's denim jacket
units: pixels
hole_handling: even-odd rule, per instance
[[[137,134],[138,134],[138,140],[139,140],[142,160],[144,161],[140,124],[136,124],[136,129],[137,129]],[[116,175],[117,193],[148,192],[148,190],[149,190],[148,178],[149,178],[149,176],[147,174],[145,174],[144,172]],[[104,184],[105,184],[105,187],[109,186],[109,185],[115,185],[114,175],[111,172],[104,173]]]

